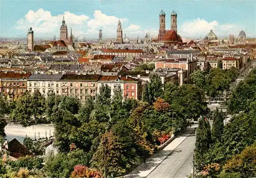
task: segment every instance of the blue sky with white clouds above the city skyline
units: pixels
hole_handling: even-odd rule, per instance
[[[256,37],[255,0],[0,0],[0,37],[25,38],[29,27],[35,39],[59,38],[63,15],[69,29],[78,39],[116,38],[118,20],[127,38],[146,33],[157,36],[159,13],[177,12],[178,34],[182,38],[203,38],[210,31],[219,38],[244,30]],[[124,35],[123,35],[124,36]]]

